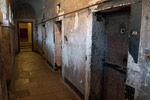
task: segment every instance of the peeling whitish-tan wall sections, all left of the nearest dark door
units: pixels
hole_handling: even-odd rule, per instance
[[[60,2],[61,10],[64,13],[73,11],[88,5],[89,0],[75,1],[43,1],[47,4],[53,2],[53,5],[43,5],[44,14],[38,18],[38,22],[53,17],[56,14],[56,5]],[[43,18],[44,19],[43,19]],[[47,60],[51,65],[55,65],[55,44],[54,44],[54,23],[51,20],[45,23],[46,27],[46,51]],[[42,24],[41,24],[42,25]],[[42,46],[41,25],[38,25],[38,44]],[[69,80],[82,94],[89,94],[90,82],[90,57],[91,57],[91,36],[92,36],[92,13],[88,10],[66,16],[62,18],[62,67],[63,78]],[[87,28],[88,27],[88,28]],[[65,39],[67,38],[67,40]],[[39,49],[40,51],[40,49]],[[41,51],[40,51],[41,52]],[[88,98],[88,96],[87,96]]]

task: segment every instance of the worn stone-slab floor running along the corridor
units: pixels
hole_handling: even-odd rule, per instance
[[[12,93],[16,100],[80,100],[37,53],[21,52],[16,57]]]

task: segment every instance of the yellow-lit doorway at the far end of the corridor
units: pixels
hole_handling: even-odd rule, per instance
[[[18,31],[19,31],[19,48],[21,52],[30,52],[32,51],[32,23],[31,22],[19,22]]]

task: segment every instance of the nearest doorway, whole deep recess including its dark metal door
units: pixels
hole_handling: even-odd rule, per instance
[[[130,12],[95,13],[91,100],[125,100]]]

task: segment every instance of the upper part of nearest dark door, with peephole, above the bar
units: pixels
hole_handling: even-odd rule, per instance
[[[126,67],[128,57],[129,15],[110,15],[107,20],[106,60],[115,65]]]

